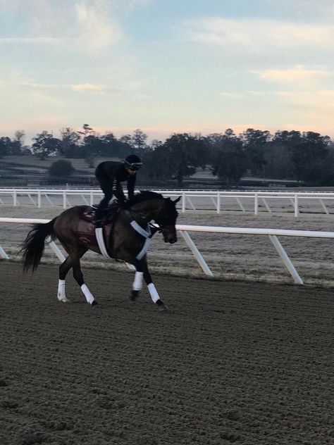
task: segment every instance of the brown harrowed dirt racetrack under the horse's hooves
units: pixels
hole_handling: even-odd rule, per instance
[[[0,444],[334,443],[333,289],[0,261]]]

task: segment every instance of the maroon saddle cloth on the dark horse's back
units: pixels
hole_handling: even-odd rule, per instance
[[[97,242],[97,237],[95,234],[95,229],[97,228],[94,224],[95,216],[94,207],[87,207],[85,211],[82,212],[79,219],[78,231],[76,237],[82,244],[89,245],[89,248],[94,251],[100,251],[99,244]],[[118,213],[120,212],[120,206],[107,207],[104,211],[104,218],[102,218],[100,227],[102,227],[104,244],[107,245],[107,241],[113,230],[113,225],[116,222]]]

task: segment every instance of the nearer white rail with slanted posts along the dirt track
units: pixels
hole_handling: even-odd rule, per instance
[[[48,223],[49,220],[37,219],[37,218],[0,218],[0,223]],[[256,229],[256,228],[245,228],[245,227],[213,227],[204,225],[176,225],[176,229],[180,232],[181,236],[185,240],[187,246],[194,254],[203,272],[209,276],[213,277],[214,274],[211,272],[209,265],[207,265],[202,254],[197,249],[193,240],[188,232],[206,232],[206,233],[225,233],[225,234],[245,234],[245,235],[267,235],[273,246],[275,247],[278,255],[283,261],[283,264],[290,272],[293,280],[297,284],[304,284],[302,278],[299,276],[295,266],[292,264],[289,256],[287,256],[286,251],[283,249],[282,244],[280,244],[278,237],[308,237],[308,238],[334,238],[334,232],[319,232],[312,230],[284,230],[284,229]],[[58,249],[58,246],[54,242],[49,242],[49,246],[56,253],[56,256],[63,262],[65,256]],[[6,251],[0,246],[0,258],[9,259]]]

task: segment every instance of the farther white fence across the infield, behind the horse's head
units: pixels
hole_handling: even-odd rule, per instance
[[[163,196],[182,196],[180,207],[187,210],[205,210],[267,213],[334,213],[334,192],[267,192],[221,190],[154,190]],[[0,206],[61,206],[68,208],[80,204],[92,206],[99,202],[99,189],[0,189]]]

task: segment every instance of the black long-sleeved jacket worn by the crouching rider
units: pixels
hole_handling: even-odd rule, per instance
[[[125,165],[116,161],[104,161],[97,165],[95,177],[101,185],[104,194],[112,193],[117,199],[125,199],[123,188],[120,182],[128,182],[128,197],[131,199],[135,192],[137,175],[129,175],[125,170]]]

